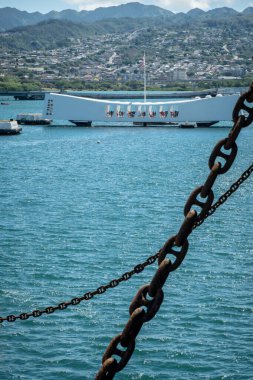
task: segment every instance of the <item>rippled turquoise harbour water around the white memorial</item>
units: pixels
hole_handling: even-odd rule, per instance
[[[0,119],[41,111],[10,101]],[[214,110],[215,112],[215,110]],[[0,316],[55,306],[120,277],[177,233],[228,128],[24,126],[0,136]],[[253,128],[216,199],[252,162]],[[253,179],[189,238],[164,302],[116,379],[253,379]],[[0,327],[0,379],[93,379],[157,264],[52,315]]]

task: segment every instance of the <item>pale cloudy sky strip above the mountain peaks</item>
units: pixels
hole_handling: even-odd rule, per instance
[[[157,5],[174,13],[188,12],[193,8],[204,11],[220,7],[233,8],[238,12],[253,7],[253,0],[0,0],[0,8],[13,7],[21,11],[48,13],[63,9],[93,10],[99,7],[126,4],[138,1],[145,5]]]

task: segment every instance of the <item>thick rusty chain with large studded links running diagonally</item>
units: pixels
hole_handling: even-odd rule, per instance
[[[211,215],[222,203],[226,201],[239,186],[244,177],[250,175],[253,165],[243,173],[236,185],[219,198],[213,206],[214,193],[212,186],[220,174],[226,173],[234,162],[237,154],[237,139],[242,128],[247,127],[253,121],[253,108],[247,103],[253,102],[253,83],[249,90],[241,95],[233,110],[233,128],[227,138],[219,141],[210,157],[208,175],[204,185],[197,187],[189,196],[185,207],[185,219],[179,228],[178,233],[172,236],[158,252],[158,270],[152,278],[150,284],[142,286],[133,298],[130,307],[130,318],[123,331],[114,337],[109,343],[103,358],[102,366],[96,375],[96,380],[113,379],[115,374],[121,371],[131,358],[135,348],[135,338],[142,325],[150,321],[158,312],[164,298],[162,290],[169,274],[176,270],[184,260],[188,248],[188,236],[192,230],[203,223],[204,219]],[[246,115],[245,115],[246,114]],[[223,163],[217,161],[218,157],[223,159]],[[199,214],[193,208],[200,208]],[[168,258],[166,258],[168,256]],[[113,357],[114,356],[114,357]],[[119,360],[116,360],[119,357]]]

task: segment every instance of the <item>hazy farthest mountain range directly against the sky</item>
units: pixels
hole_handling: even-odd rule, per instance
[[[4,7],[0,8],[0,31],[5,32],[17,27],[36,25],[50,19],[67,20],[74,23],[94,23],[106,19],[120,19],[126,17],[132,19],[154,19],[165,17],[170,19],[175,18],[178,20],[190,20],[195,18],[219,19],[238,14],[252,15],[253,7],[248,7],[242,12],[237,12],[228,7],[221,7],[214,8],[206,12],[201,9],[194,8],[186,13],[173,13],[155,5],[144,5],[139,2],[130,2],[118,6],[99,7],[92,11],[82,10],[78,12],[73,9],[65,9],[60,12],[52,10],[45,14],[40,12],[29,13],[27,11],[20,11],[16,8]]]

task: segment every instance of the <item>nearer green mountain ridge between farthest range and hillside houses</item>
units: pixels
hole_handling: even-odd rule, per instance
[[[190,12],[189,15],[178,13],[169,17],[153,18],[114,18],[103,19],[93,23],[76,23],[69,20],[49,19],[35,25],[19,26],[10,31],[0,33],[2,51],[32,51],[40,49],[56,49],[72,45],[75,40],[85,41],[87,38],[95,38],[97,41],[103,35],[118,35],[121,39],[124,34],[138,36],[132,45],[133,48],[142,46],[146,39],[150,40],[156,34],[164,34],[167,30],[172,33],[185,33],[185,30],[198,30],[204,32],[207,28],[231,30],[240,33],[240,30],[253,28],[251,14],[236,13],[230,17],[221,16],[220,19],[202,14]],[[141,31],[141,33],[140,33]],[[202,32],[201,32],[202,31]],[[52,38],[53,36],[53,38]],[[127,37],[129,38],[129,37]],[[131,41],[131,38],[130,40]],[[119,41],[122,44],[123,41]],[[131,44],[131,42],[130,42]],[[249,47],[250,48],[250,47]]]

